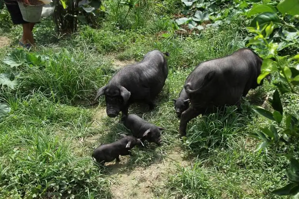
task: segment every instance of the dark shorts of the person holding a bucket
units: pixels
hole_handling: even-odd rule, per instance
[[[8,12],[10,13],[11,21],[13,24],[29,23],[23,20],[18,2],[16,0],[4,0]]]

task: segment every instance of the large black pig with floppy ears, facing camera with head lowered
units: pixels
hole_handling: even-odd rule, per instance
[[[168,53],[165,53],[168,56]],[[145,102],[153,109],[153,100],[162,90],[168,75],[167,61],[163,53],[150,51],[137,64],[120,69],[108,82],[97,91],[94,100],[105,95],[106,112],[111,118],[122,111],[128,115],[131,103]]]

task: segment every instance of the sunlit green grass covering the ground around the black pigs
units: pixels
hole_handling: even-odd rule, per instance
[[[243,100],[240,111],[227,107],[199,116],[189,123],[186,139],[177,136],[179,120],[172,99],[200,62],[239,48],[247,19],[236,16],[219,28],[187,35],[177,31],[164,38],[163,33],[172,31],[173,15],[181,11],[180,0],[142,1],[126,19],[128,7],[116,7],[119,2],[105,1],[107,16],[100,29],[80,26],[70,37],[54,33],[54,24],[43,20],[35,28],[35,52],[15,50],[21,28],[9,20],[1,21],[0,35],[11,39],[11,46],[0,48],[0,60],[9,57],[20,65],[1,62],[0,72],[20,73],[20,77],[15,89],[2,86],[0,90],[0,103],[11,108],[0,118],[0,198],[112,198],[114,180],[108,175],[109,168],[95,164],[91,153],[98,144],[130,132],[119,118],[103,117],[103,98],[98,107],[87,105],[96,89],[115,73],[112,60],[140,61],[152,49],[170,54],[166,84],[153,111],[140,104],[129,111],[165,128],[163,144],[135,147],[134,156],[117,172],[147,168],[179,148],[191,164],[178,163],[165,174],[163,183],[152,187],[156,198],[282,198],[270,192],[287,184],[284,154],[298,155],[298,151],[269,147],[255,152],[257,141],[246,136],[269,125],[252,112],[251,105],[260,105],[263,95],[273,92],[272,84],[264,82],[255,89]],[[298,99],[285,96],[285,110],[298,114]]]

